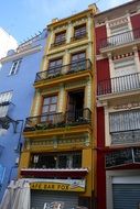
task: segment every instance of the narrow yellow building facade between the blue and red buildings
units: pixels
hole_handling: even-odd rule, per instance
[[[31,208],[60,201],[94,208],[96,6],[47,25],[19,175],[31,185]]]

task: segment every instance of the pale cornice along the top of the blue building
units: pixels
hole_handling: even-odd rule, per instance
[[[41,45],[34,46],[32,48],[28,48],[25,51],[22,51],[22,52],[15,53],[13,55],[7,56],[4,58],[1,58],[0,63],[3,64],[3,63],[7,63],[7,62],[10,62],[10,61],[19,59],[19,58],[21,58],[23,56],[36,53],[36,52],[41,51],[41,48],[42,48]]]

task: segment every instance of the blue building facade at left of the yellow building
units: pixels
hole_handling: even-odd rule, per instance
[[[17,179],[22,130],[34,97],[33,82],[40,70],[46,30],[9,52],[0,61],[0,200],[11,182]]]

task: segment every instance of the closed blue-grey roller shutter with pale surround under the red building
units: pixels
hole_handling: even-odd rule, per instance
[[[106,172],[107,209],[140,209],[140,169]]]

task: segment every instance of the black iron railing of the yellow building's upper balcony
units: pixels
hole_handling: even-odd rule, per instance
[[[39,72],[35,77],[35,82],[88,69],[91,69],[91,62],[89,59],[82,59],[68,65],[56,66],[44,72]]]

